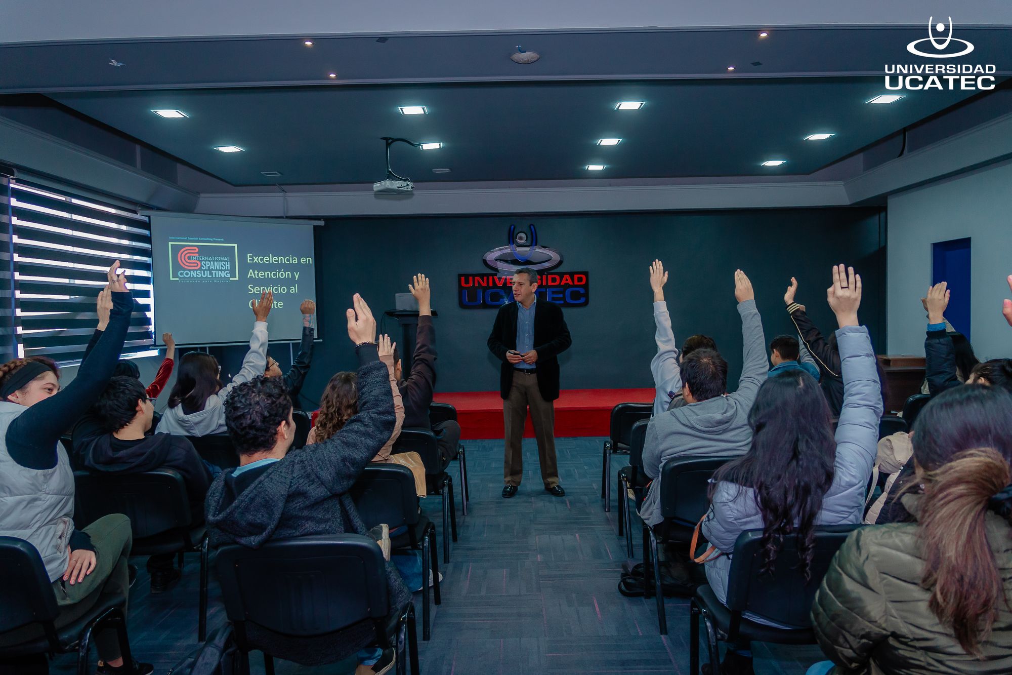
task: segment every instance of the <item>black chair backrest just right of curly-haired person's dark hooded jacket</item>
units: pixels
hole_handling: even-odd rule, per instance
[[[365,527],[387,523],[393,530],[418,523],[415,476],[403,464],[369,464],[349,493]]]

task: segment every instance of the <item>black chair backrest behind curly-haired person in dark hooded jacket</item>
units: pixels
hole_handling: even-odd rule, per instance
[[[222,546],[218,576],[231,621],[286,635],[322,635],[388,612],[383,551],[360,534]]]

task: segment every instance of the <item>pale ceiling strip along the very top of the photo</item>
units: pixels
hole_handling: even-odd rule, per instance
[[[1012,25],[1008,0],[6,0],[0,43],[705,26]]]

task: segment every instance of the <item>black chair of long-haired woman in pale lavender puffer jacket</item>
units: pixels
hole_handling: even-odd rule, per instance
[[[718,641],[814,645],[812,601],[829,570],[830,561],[847,536],[860,525],[829,525],[816,528],[815,551],[809,566],[809,581],[797,572],[797,538],[785,537],[776,554],[772,574],[762,574],[764,551],[762,530],[746,530],[738,535],[728,577],[728,604],[723,604],[708,585],[696,589],[689,605],[689,673],[699,672],[699,617],[706,624],[709,663],[720,670]],[[753,621],[750,612],[777,623],[781,628]]]

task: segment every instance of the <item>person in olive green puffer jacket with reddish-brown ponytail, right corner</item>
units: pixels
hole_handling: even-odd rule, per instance
[[[978,444],[959,451],[954,434]],[[1012,395],[946,391],[913,438],[915,522],[861,528],[837,552],[812,608],[833,663],[810,674],[1012,673]]]

